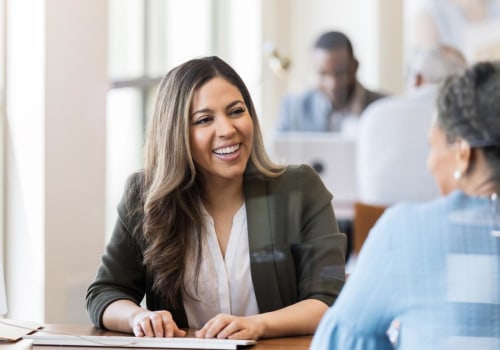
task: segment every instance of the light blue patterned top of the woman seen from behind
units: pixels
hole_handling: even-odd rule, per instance
[[[460,191],[386,210],[311,349],[500,349],[499,230]]]

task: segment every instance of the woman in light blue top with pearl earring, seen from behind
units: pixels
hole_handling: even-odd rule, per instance
[[[500,62],[445,81],[428,157],[442,196],[385,211],[311,349],[500,349],[499,91]]]

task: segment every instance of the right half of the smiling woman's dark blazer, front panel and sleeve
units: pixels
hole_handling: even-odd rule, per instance
[[[247,176],[245,196],[259,310],[310,298],[331,305],[345,281],[346,237],[319,175],[302,165],[276,178]]]

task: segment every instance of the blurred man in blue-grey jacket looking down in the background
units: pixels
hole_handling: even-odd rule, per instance
[[[350,40],[341,32],[327,32],[317,39],[313,65],[317,87],[285,96],[278,131],[340,132],[346,120],[357,121],[366,106],[383,96],[357,81],[358,61]]]

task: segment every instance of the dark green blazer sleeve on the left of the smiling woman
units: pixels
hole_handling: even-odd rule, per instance
[[[104,328],[102,316],[109,304],[120,299],[139,304],[145,293],[142,249],[133,234],[138,221],[130,209],[139,200],[137,177],[134,175],[128,181],[97,276],[87,289],[87,311],[94,325],[100,328]]]

